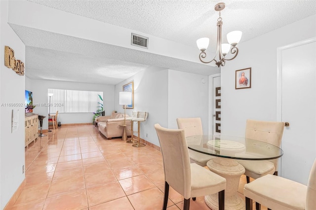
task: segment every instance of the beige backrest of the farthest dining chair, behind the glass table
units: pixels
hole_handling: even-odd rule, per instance
[[[186,137],[203,135],[201,118],[177,118],[179,129],[184,129]]]

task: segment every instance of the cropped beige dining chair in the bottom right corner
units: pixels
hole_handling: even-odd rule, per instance
[[[252,210],[252,200],[270,210],[316,210],[316,160],[307,186],[276,175],[265,175],[245,184],[246,210]],[[256,207],[260,210],[260,205]]]

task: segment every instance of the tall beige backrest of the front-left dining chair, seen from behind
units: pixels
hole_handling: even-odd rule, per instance
[[[163,158],[165,181],[185,199],[191,197],[191,166],[183,129],[155,124]]]

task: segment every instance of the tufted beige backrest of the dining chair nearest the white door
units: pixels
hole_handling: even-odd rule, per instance
[[[259,121],[247,119],[245,138],[260,140],[277,147],[280,147],[284,131],[284,122]],[[277,171],[277,159],[269,160],[273,162]]]

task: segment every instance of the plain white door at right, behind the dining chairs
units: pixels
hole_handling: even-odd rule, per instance
[[[278,120],[289,122],[281,176],[306,185],[316,158],[316,38],[279,48],[277,62]]]

